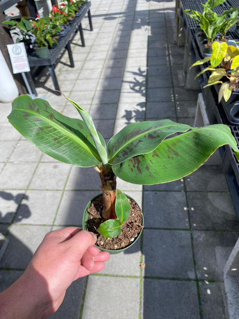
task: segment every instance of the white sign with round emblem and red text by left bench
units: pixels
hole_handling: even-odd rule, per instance
[[[23,42],[7,45],[13,73],[29,72],[30,67]]]

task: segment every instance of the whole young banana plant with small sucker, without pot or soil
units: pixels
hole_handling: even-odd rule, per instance
[[[225,144],[231,145],[239,160],[235,138],[223,124],[194,128],[170,120],[135,122],[114,135],[106,147],[91,116],[67,99],[82,120],[62,115],[46,100],[32,100],[27,95],[12,102],[8,120],[45,154],[98,172],[105,219],[98,232],[104,237],[119,234],[129,213],[127,197],[116,189],[116,176],[143,185],[175,181],[194,172]],[[182,134],[175,136],[177,132]]]

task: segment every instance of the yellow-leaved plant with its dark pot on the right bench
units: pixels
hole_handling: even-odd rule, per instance
[[[218,93],[218,102],[222,103],[228,120],[238,124],[239,104],[234,104],[234,101],[239,101],[239,48],[217,41],[213,42],[212,48],[211,57],[195,62],[191,67],[210,61],[210,65],[199,72],[196,77],[206,71],[212,71],[204,88],[214,85]]]

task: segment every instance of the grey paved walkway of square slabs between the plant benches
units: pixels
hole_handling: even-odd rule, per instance
[[[56,64],[62,92],[91,114],[106,142],[132,122],[193,126],[198,91],[184,88],[174,8],[174,1],[92,0],[94,31],[86,17],[86,46],[79,34],[71,44],[75,68],[66,65],[67,52]],[[52,93],[47,70],[36,84],[58,112],[79,117]],[[42,154],[8,123],[10,112],[11,103],[0,104],[0,232],[9,239],[0,290],[21,275],[49,230],[80,226],[85,205],[101,192],[92,167]],[[75,281],[51,318],[226,318],[222,269],[239,223],[218,152],[181,180],[142,186],[117,179],[117,188],[143,207],[141,238],[112,255],[100,275]]]

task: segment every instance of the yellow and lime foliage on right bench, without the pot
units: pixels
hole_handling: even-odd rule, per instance
[[[222,97],[227,102],[231,96],[231,93],[238,89],[239,83],[239,48],[232,45],[228,45],[226,42],[213,42],[212,55],[193,63],[193,66],[204,64],[210,61],[210,65],[204,70],[199,72],[195,78],[204,73],[205,71],[213,71],[208,78],[207,85],[221,84],[218,101],[220,102]],[[228,81],[221,81],[223,77],[226,77]]]

